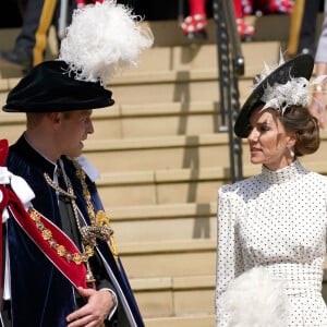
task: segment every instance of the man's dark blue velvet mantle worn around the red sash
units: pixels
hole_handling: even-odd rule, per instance
[[[83,190],[72,162],[62,157],[65,172],[71,179],[76,203],[85,219],[88,219]],[[61,228],[56,192],[47,184],[44,172],[53,175],[56,166],[35,152],[24,135],[10,147],[8,169],[23,177],[32,186],[36,197],[33,206],[53,223]],[[87,179],[92,202],[96,210],[102,209],[95,184]],[[87,221],[89,223],[89,221]],[[13,327],[64,327],[65,317],[76,310],[74,288],[65,277],[50,263],[14,219],[8,221],[8,243],[11,263],[12,322]],[[131,314],[135,324],[118,326],[144,326],[136,301],[122,266],[118,266],[106,242],[98,241],[98,251],[110,266],[122,290],[118,292],[118,314]],[[118,317],[119,323],[119,317]]]

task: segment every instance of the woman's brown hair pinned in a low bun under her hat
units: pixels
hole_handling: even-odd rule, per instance
[[[295,156],[310,155],[318,149],[320,145],[318,121],[307,108],[290,106],[280,119],[287,132],[295,133]]]

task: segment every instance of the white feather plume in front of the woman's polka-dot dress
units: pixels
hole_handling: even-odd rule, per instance
[[[289,302],[283,282],[271,279],[263,267],[238,278],[219,299],[229,317],[228,327],[287,327]]]

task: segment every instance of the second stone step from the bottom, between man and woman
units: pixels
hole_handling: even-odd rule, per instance
[[[130,278],[191,277],[215,274],[216,243],[216,239],[138,241],[118,244],[118,251]]]

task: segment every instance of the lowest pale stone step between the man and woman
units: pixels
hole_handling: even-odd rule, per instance
[[[154,324],[159,317],[196,315],[203,319],[214,314],[214,274],[131,279],[131,287],[141,313],[145,318],[154,318]]]

